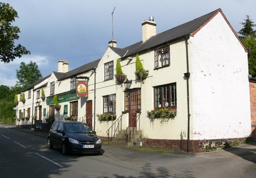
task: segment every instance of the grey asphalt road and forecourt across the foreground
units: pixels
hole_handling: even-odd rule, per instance
[[[254,178],[256,144],[204,154],[160,153],[103,145],[103,154],[63,156],[46,138],[0,125],[2,178]]]

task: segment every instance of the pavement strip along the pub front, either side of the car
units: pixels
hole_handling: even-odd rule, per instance
[[[18,128],[18,127],[12,127],[11,129],[15,129],[18,131],[34,134],[36,136],[40,136],[43,138],[48,137],[47,131],[32,131],[31,129],[26,128]],[[46,141],[47,144],[47,141]],[[121,146],[110,146],[107,144],[102,144],[102,152],[105,156],[110,156],[112,158],[122,160],[122,161],[140,161],[142,158],[153,158],[153,157],[191,157],[195,156],[196,154],[193,153],[187,153],[182,152],[180,150],[174,150],[174,152],[166,153],[166,152],[157,152],[157,151],[142,151],[142,150],[136,150],[129,147],[121,147]]]

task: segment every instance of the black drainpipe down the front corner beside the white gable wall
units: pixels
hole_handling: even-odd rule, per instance
[[[190,110],[189,110],[189,83],[188,79],[190,77],[189,73],[189,67],[188,67],[188,36],[186,35],[186,59],[187,59],[187,73],[184,73],[184,76],[186,77],[187,80],[187,107],[188,107],[188,152],[190,148]]]

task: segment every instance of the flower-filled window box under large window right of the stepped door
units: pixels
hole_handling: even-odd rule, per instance
[[[163,109],[153,109],[148,111],[148,116],[152,119],[160,118],[160,119],[170,119],[174,118],[177,114],[177,109],[172,108],[163,108]]]

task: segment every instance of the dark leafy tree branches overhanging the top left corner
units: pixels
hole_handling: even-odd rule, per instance
[[[20,28],[11,25],[12,22],[15,22],[15,18],[18,18],[16,10],[10,4],[0,2],[0,59],[4,63],[30,54],[26,47],[20,44],[15,46],[14,41],[20,38],[18,36]]]

